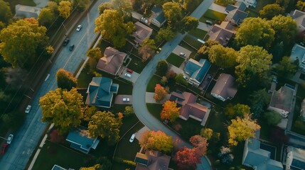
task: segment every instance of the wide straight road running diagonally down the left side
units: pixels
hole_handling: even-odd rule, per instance
[[[39,104],[39,98],[44,96],[48,91],[54,90],[57,87],[55,74],[59,68],[75,72],[78,65],[85,60],[86,52],[90,48],[91,43],[97,37],[94,33],[95,18],[99,15],[98,6],[107,0],[98,0],[94,6],[87,13],[87,16],[80,21],[82,30],[76,32],[73,28],[73,33],[70,36],[70,42],[67,47],[63,47],[58,55],[58,58],[53,63],[50,69],[50,77],[43,82],[41,88],[38,90],[31,102],[32,109],[26,115],[26,121],[22,127],[14,133],[14,140],[9,145],[6,154],[0,159],[1,170],[21,170],[25,169],[28,160],[46,129],[47,123],[41,122],[42,111]],[[74,44],[75,49],[70,52],[69,45]],[[46,75],[47,76],[47,75]]]

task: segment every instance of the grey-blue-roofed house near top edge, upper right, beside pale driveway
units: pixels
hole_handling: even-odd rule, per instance
[[[245,3],[240,3],[239,6],[228,4],[225,8],[225,12],[228,15],[225,17],[225,21],[229,21],[232,24],[240,25],[245,18],[247,18],[248,13],[245,12],[247,6]]]

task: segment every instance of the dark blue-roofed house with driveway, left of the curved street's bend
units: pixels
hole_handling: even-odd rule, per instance
[[[119,91],[119,84],[112,84],[107,77],[93,77],[87,89],[86,105],[110,108],[114,94]]]

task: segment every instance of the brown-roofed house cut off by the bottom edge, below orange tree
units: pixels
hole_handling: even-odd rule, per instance
[[[171,157],[156,150],[146,149],[148,164],[137,164],[136,170],[167,170]]]

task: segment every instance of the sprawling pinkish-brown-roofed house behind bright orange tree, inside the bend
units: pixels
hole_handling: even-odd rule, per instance
[[[172,92],[169,97],[169,101],[175,101],[180,108],[179,118],[183,120],[188,120],[188,118],[193,118],[200,121],[200,125],[205,125],[206,120],[208,120],[208,115],[210,115],[210,109],[206,106],[196,103],[197,96],[188,93],[177,93]]]

